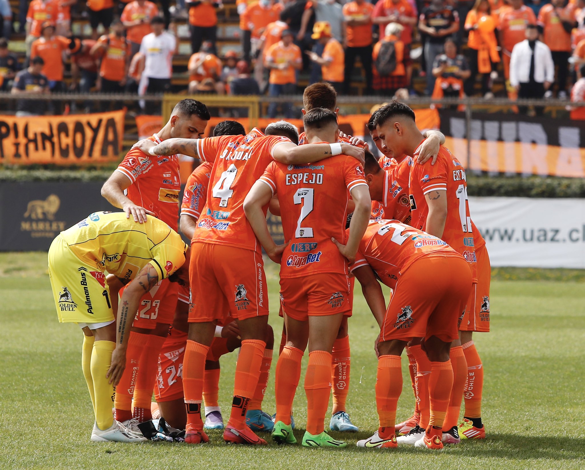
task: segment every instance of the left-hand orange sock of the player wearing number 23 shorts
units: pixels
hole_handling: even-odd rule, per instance
[[[150,334],[130,331],[128,348],[126,349],[126,368],[116,386],[116,398],[114,399],[114,417],[118,421],[123,422],[132,419],[132,397],[138,378],[140,355],[142,355],[142,351],[146,347],[149,336]],[[151,394],[153,383],[154,380],[150,384]]]

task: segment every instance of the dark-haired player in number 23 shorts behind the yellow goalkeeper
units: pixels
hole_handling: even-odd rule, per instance
[[[149,137],[153,143],[172,137],[201,137],[210,119],[207,107],[194,99],[183,99],[174,107],[171,117],[160,132]],[[155,216],[177,230],[178,202],[181,191],[177,155],[153,157],[132,148],[102,186],[104,196],[113,206],[122,208],[127,217],[143,223]],[[116,390],[114,403],[118,421],[145,435],[153,432],[150,402],[157,375],[159,353],[173,323],[177,300],[189,303],[188,286],[161,282],[157,289],[144,295],[136,315],[128,346],[126,369]],[[183,306],[183,307],[185,307]],[[133,399],[133,403],[132,403]]]

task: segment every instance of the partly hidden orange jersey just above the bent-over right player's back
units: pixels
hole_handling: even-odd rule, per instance
[[[406,157],[385,171],[386,177],[382,192],[384,199],[379,201],[377,218],[398,220],[407,224],[411,222],[408,198],[408,177],[411,166],[412,158]]]

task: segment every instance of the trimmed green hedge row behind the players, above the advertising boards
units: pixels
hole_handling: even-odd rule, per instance
[[[91,170],[0,169],[1,181],[105,181],[113,168]],[[467,178],[470,196],[519,196],[525,198],[585,198],[583,178],[488,177]]]

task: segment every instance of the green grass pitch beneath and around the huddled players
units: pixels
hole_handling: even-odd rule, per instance
[[[377,428],[374,383],[374,321],[359,287],[349,322],[352,371],[347,411],[360,433],[345,450],[300,445],[228,446],[221,433],[211,444],[92,444],[91,402],[81,374],[82,335],[59,324],[42,253],[0,254],[1,469],[557,469],[585,468],[585,284],[554,281],[493,281],[492,332],[477,334],[484,361],[485,441],[430,452],[358,449],[359,438]],[[270,263],[270,262],[269,262]],[[270,322],[280,343],[278,281],[269,277]],[[429,279],[432,282],[432,279]],[[229,413],[236,355],[222,358],[220,401]],[[307,354],[305,354],[305,365]],[[406,368],[398,418],[410,416],[414,398]],[[272,374],[274,373],[275,361]],[[300,440],[306,420],[302,378],[295,398]],[[331,403],[331,402],[330,402]],[[264,409],[274,412],[271,376]],[[329,416],[328,418],[329,419]],[[328,421],[326,426],[328,425]]]

